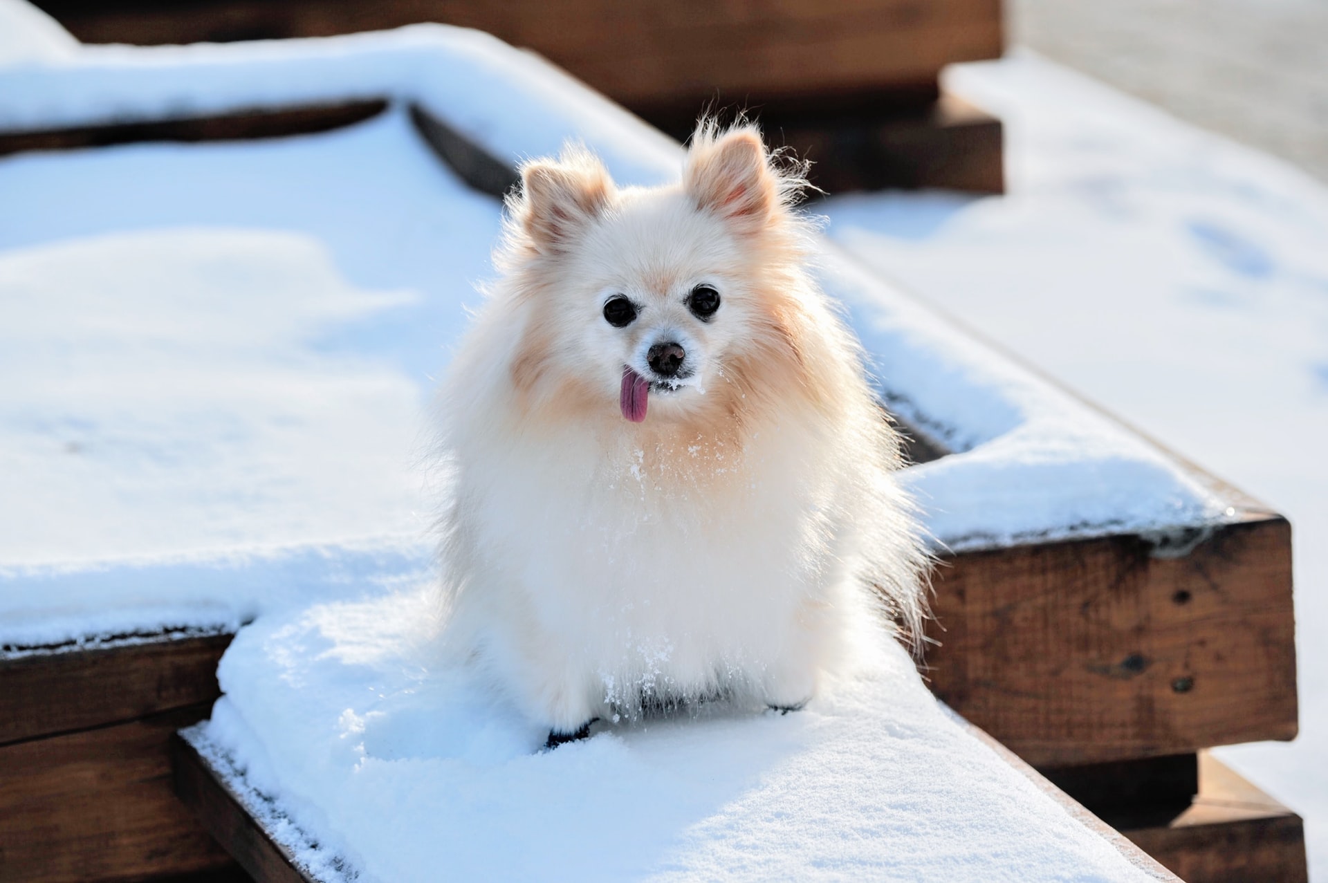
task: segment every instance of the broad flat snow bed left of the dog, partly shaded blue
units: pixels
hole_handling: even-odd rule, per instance
[[[19,155],[0,193],[21,465],[0,473],[0,643],[234,628],[429,566],[422,406],[499,215],[402,114]]]

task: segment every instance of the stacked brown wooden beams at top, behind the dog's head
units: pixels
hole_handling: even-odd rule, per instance
[[[534,49],[684,139],[703,110],[758,120],[815,161],[827,193],[1003,193],[996,117],[943,96],[940,70],[999,57],[1000,0],[39,0],[85,42],[313,37],[420,21]]]

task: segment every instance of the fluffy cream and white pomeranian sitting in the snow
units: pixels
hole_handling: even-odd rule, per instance
[[[440,394],[445,645],[550,748],[596,718],[807,702],[855,619],[916,643],[899,440],[809,272],[803,166],[703,123],[680,183],[521,169]]]

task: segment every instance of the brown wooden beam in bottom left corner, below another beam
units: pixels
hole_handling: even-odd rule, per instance
[[[0,880],[130,880],[231,868],[170,785],[169,740],[210,708],[0,748]]]

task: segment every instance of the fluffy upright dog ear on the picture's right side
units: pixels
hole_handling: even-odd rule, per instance
[[[770,170],[761,135],[752,126],[693,145],[683,182],[701,208],[744,231],[761,230],[780,207],[780,182]]]

